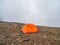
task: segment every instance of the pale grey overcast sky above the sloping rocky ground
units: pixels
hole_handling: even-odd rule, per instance
[[[0,0],[0,20],[60,27],[60,0]]]

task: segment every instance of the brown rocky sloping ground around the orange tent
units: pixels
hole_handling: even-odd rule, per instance
[[[24,34],[23,25],[0,21],[0,45],[60,45],[60,27],[37,26],[37,33]]]

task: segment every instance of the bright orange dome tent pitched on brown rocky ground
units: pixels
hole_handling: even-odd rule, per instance
[[[33,33],[37,31],[38,31],[38,28],[34,24],[26,24],[22,27],[23,33]]]

